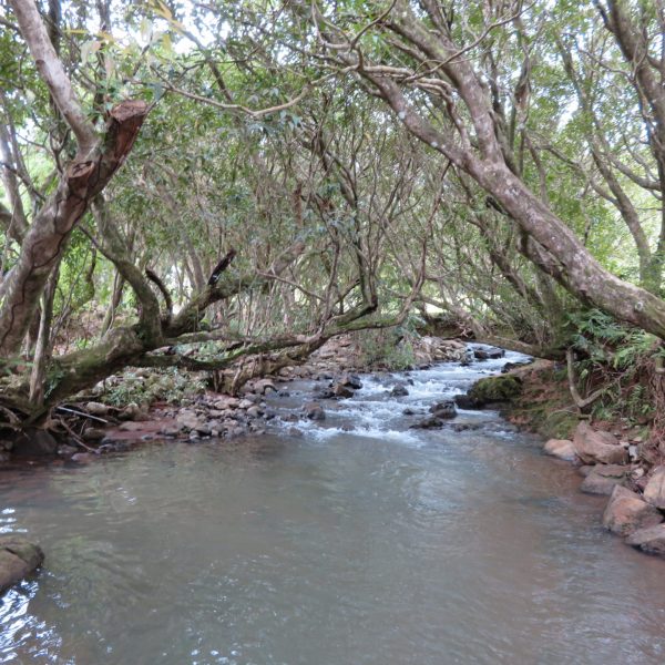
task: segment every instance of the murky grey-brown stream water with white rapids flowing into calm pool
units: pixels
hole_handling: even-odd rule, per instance
[[[408,429],[501,362],[399,399],[364,379],[300,437],[3,472],[0,532],[47,562],[2,600],[0,662],[664,663],[665,562],[602,530],[572,468],[492,411]]]

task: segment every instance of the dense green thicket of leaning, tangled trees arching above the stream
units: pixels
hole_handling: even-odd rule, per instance
[[[0,8],[0,427],[434,320],[653,419],[661,2]]]

